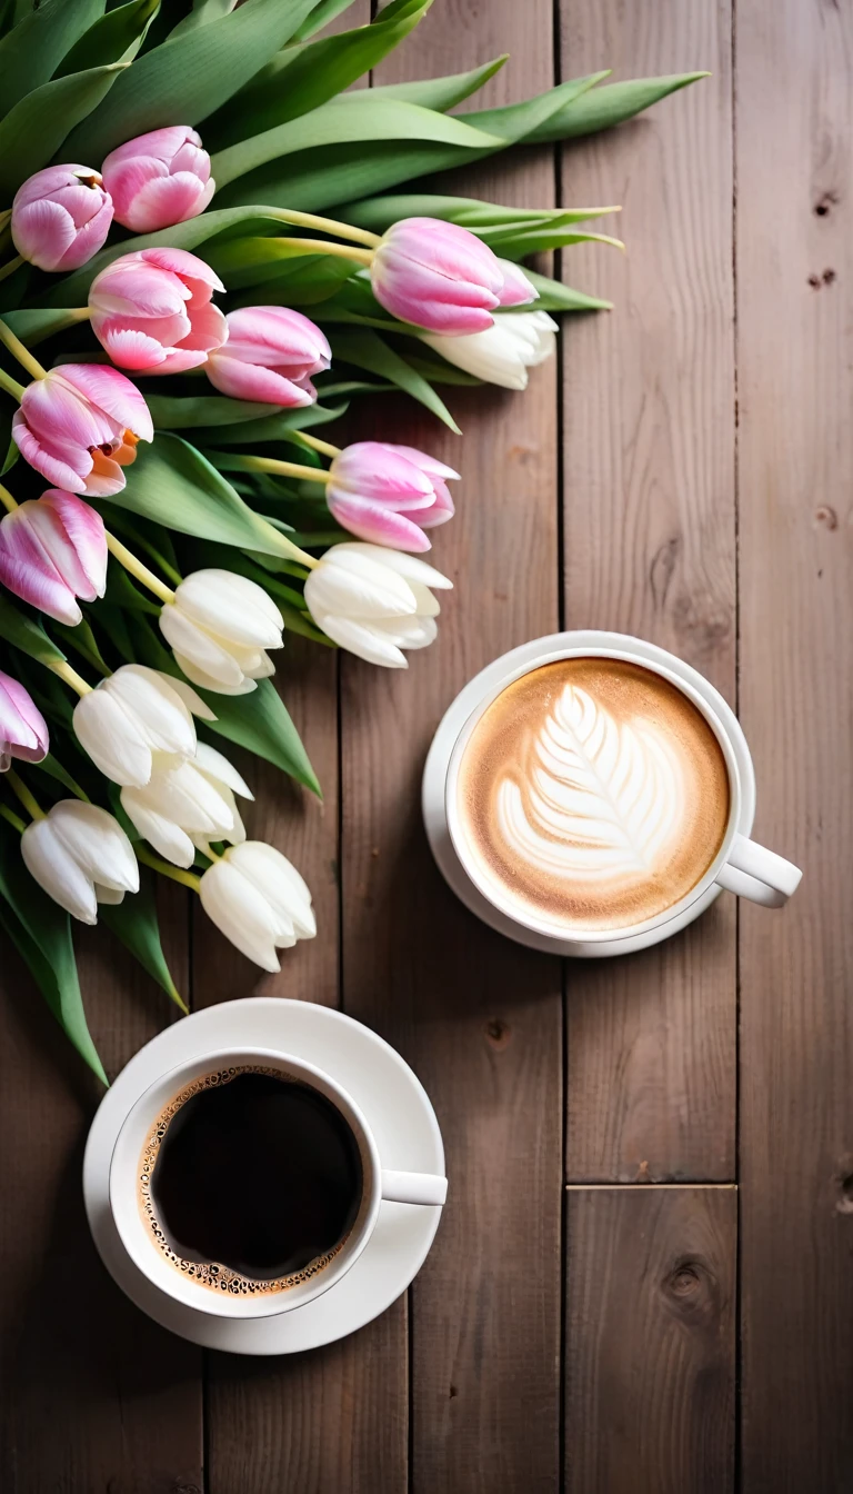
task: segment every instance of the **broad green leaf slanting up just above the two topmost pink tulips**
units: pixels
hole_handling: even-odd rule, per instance
[[[309,10],[311,0],[252,0],[143,52],[72,133],[69,160],[102,161],[124,140],[176,120],[199,124],[290,40]]]

